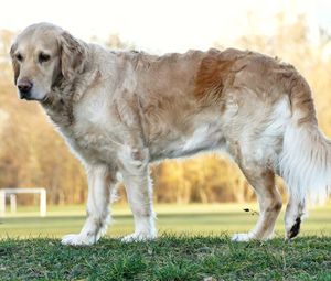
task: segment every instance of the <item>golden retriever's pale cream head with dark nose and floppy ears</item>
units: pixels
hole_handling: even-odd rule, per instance
[[[39,23],[19,34],[10,55],[19,97],[44,100],[56,83],[83,72],[86,48],[61,28]]]

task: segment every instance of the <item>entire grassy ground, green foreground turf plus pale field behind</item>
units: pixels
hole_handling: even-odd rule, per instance
[[[244,208],[257,209],[254,204],[159,205],[161,237],[121,244],[110,237],[130,233],[132,218],[116,205],[107,238],[93,247],[65,247],[57,239],[79,231],[84,206],[51,207],[45,218],[21,208],[1,219],[0,280],[331,281],[330,205],[310,212],[298,239],[282,238],[280,217],[276,239],[234,244],[229,235],[249,230],[257,219]]]

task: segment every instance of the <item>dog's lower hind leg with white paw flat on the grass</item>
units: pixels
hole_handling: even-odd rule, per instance
[[[275,185],[275,174],[271,169],[254,165],[241,165],[246,179],[254,187],[259,203],[259,218],[248,234],[236,234],[233,241],[248,241],[253,239],[267,240],[274,234],[274,227],[281,209],[281,196]]]

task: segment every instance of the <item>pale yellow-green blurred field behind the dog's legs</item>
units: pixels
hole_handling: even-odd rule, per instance
[[[255,204],[213,205],[158,205],[157,226],[161,233],[188,235],[217,235],[227,231],[248,231],[256,223],[257,215],[243,209],[257,210]],[[21,208],[15,216],[0,218],[0,238],[60,238],[78,233],[85,220],[84,206],[53,206],[45,218],[38,216],[35,208]],[[331,236],[331,204],[311,209],[302,224],[301,235]],[[284,237],[284,213],[280,214],[276,235]],[[132,216],[126,205],[115,205],[114,220],[107,236],[118,237],[132,231]]]

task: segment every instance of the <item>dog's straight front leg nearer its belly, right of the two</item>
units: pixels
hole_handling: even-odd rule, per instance
[[[152,207],[152,185],[148,170],[148,153],[127,148],[121,153],[124,184],[134,214],[135,233],[121,240],[150,240],[157,237]]]

